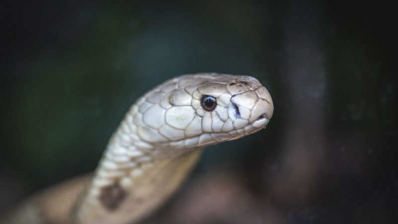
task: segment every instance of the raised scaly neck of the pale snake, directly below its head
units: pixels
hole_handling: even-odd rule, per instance
[[[131,119],[127,114],[111,137],[77,204],[77,223],[138,220],[164,202],[196,164],[202,150],[171,152],[171,148],[149,144],[138,136]]]

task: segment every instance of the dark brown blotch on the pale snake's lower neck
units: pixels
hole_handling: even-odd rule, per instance
[[[99,199],[103,207],[109,211],[114,211],[119,208],[126,195],[126,190],[120,186],[119,182],[116,182],[113,185],[103,188]]]

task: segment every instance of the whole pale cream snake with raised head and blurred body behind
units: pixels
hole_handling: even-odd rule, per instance
[[[250,76],[198,73],[165,81],[130,107],[94,175],[33,196],[5,223],[138,222],[176,192],[204,147],[265,128],[273,111],[270,93]]]

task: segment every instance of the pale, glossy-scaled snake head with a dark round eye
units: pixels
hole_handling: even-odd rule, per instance
[[[187,149],[259,131],[273,110],[269,92],[257,79],[203,73],[166,81],[144,95],[130,114],[141,142]]]

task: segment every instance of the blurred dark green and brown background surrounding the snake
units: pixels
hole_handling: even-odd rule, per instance
[[[265,130],[207,148],[143,223],[397,223],[397,20],[382,2],[5,1],[0,210],[92,171],[177,75],[251,75]]]

